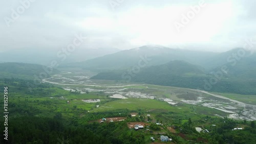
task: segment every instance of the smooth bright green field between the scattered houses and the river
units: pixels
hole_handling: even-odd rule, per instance
[[[111,101],[103,104],[94,111],[110,111],[116,109],[128,109],[128,110],[142,110],[148,111],[153,110],[147,113],[173,113],[173,116],[181,115],[181,117],[186,116],[195,116],[198,115],[210,115],[215,116],[215,114],[226,116],[227,114],[212,108],[202,107],[202,106],[191,106],[188,104],[180,105],[180,106],[172,106],[166,102],[151,100],[151,99],[123,99]],[[170,115],[170,116],[172,116]]]

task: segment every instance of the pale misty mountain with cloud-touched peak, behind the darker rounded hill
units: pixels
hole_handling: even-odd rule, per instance
[[[213,52],[199,52],[181,49],[169,49],[164,46],[141,46],[131,50],[124,50],[114,54],[105,55],[80,63],[72,63],[70,66],[82,67],[85,69],[120,69],[129,68],[138,63],[141,57],[150,58],[148,65],[159,65],[171,60],[192,61],[199,65],[205,65],[202,59],[211,59],[218,55]]]

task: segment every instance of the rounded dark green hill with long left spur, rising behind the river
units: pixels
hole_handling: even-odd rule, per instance
[[[187,87],[191,83],[206,78],[207,75],[197,65],[185,61],[170,61],[166,64],[143,68],[139,73],[129,73],[130,70],[114,70],[99,73],[91,79],[119,80],[169,86]],[[202,81],[203,82],[203,81]],[[202,84],[203,85],[203,84]]]

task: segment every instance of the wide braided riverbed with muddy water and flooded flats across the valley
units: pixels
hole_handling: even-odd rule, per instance
[[[188,88],[156,86],[148,84],[122,84],[113,81],[91,80],[91,73],[63,73],[44,79],[44,82],[59,84],[69,91],[102,92],[115,99],[156,99],[170,106],[190,104],[217,109],[234,119],[256,120],[256,106],[223,97],[208,91]],[[255,97],[256,98],[256,97]],[[100,100],[82,100],[96,103]],[[218,114],[216,114],[218,115]]]

